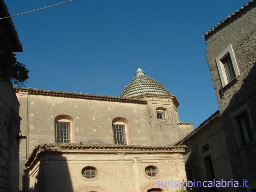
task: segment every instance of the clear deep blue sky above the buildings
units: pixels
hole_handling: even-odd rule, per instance
[[[60,2],[5,0],[11,15]],[[13,17],[25,86],[119,96],[140,67],[195,128],[218,109],[202,35],[247,2],[75,0]]]

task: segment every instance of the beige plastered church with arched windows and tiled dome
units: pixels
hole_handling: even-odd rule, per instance
[[[179,121],[175,95],[141,69],[120,97],[32,88],[15,91],[21,103],[21,132],[27,137],[20,144],[21,173],[33,152],[28,176],[20,177],[23,188],[147,192],[156,188],[157,178],[186,179],[185,147],[172,144],[191,132],[193,124]],[[35,145],[39,147],[34,149]],[[57,174],[67,180],[58,178],[58,185],[47,180]],[[65,190],[63,182],[70,185]],[[93,186],[98,188],[92,190]]]

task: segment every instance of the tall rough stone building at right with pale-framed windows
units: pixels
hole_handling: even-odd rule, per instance
[[[204,37],[233,177],[256,191],[256,1]]]

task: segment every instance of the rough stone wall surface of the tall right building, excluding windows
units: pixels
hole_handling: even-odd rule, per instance
[[[207,61],[214,83],[215,94],[222,115],[225,138],[227,140],[230,162],[235,179],[248,179],[250,184],[256,183],[256,145],[253,142],[239,149],[232,127],[230,114],[246,104],[250,108],[253,119],[253,134],[255,137],[256,125],[256,3],[252,3],[236,16],[230,18],[225,24],[206,36]],[[232,44],[237,60],[240,76],[237,81],[223,89],[221,94],[220,79],[215,58]],[[238,191],[242,189],[238,189]]]

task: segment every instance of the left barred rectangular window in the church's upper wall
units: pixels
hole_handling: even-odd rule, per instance
[[[56,122],[56,142],[57,143],[70,143],[70,123],[69,122]]]

